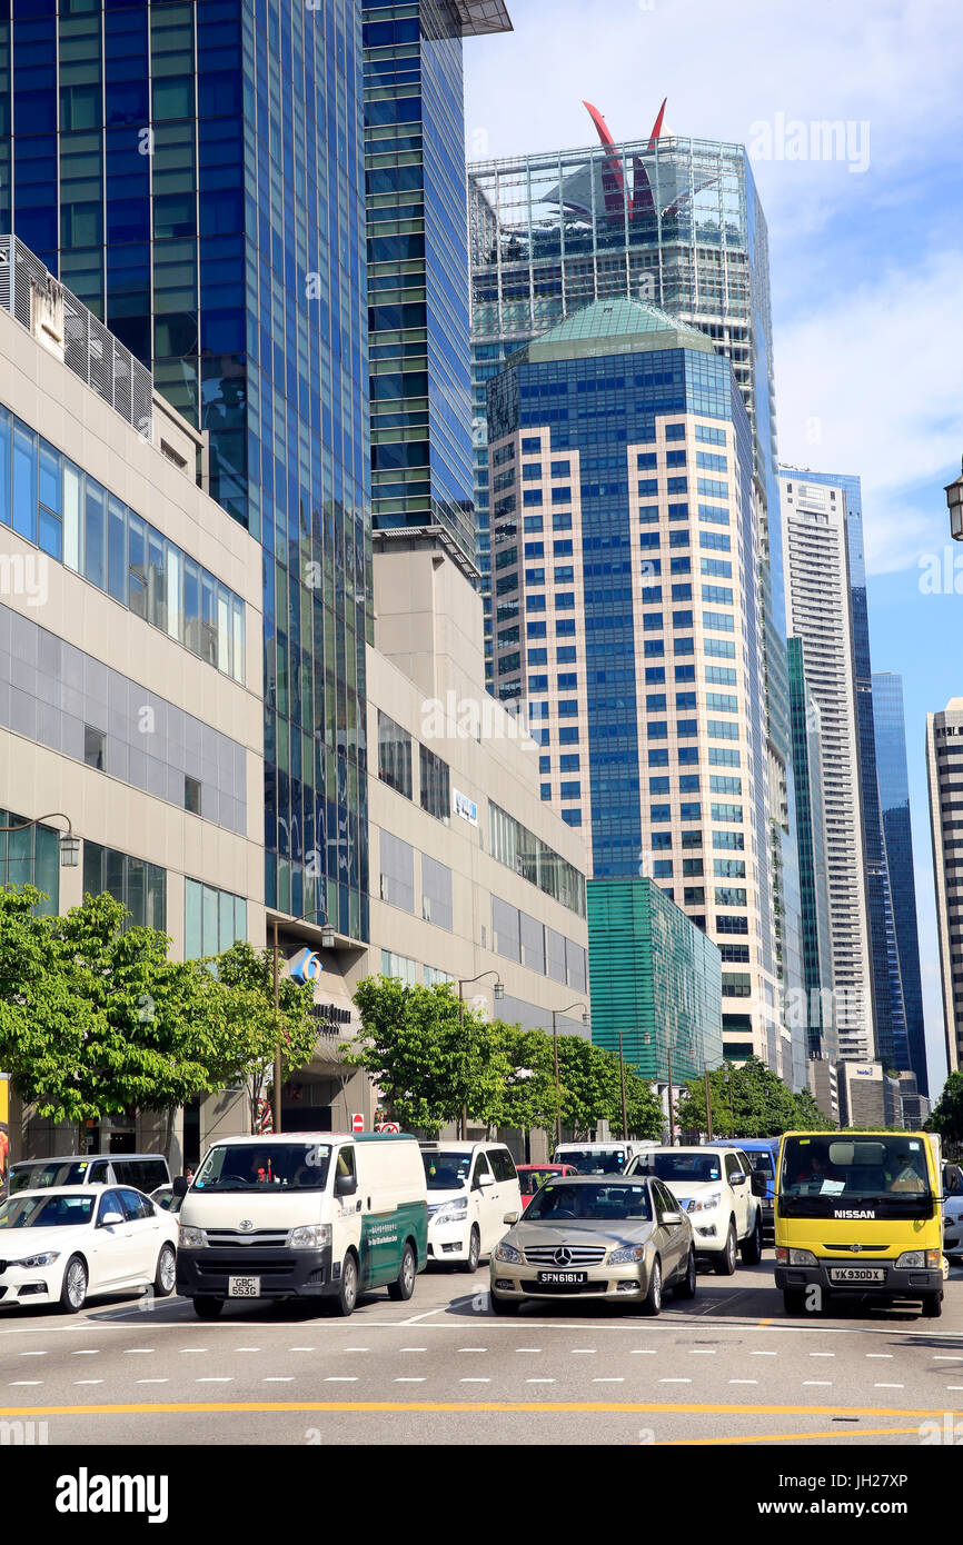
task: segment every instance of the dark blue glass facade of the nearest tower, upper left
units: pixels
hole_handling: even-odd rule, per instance
[[[264,547],[266,899],[366,936],[354,0],[0,0],[0,229],[210,436]]]

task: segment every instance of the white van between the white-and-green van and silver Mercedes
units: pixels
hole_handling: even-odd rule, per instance
[[[505,1213],[521,1217],[518,1170],[504,1143],[422,1143],[428,1182],[428,1259],[478,1272],[509,1231]]]

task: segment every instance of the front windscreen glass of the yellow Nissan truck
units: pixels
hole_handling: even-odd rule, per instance
[[[926,1139],[912,1134],[788,1137],[784,1197],[929,1197]]]

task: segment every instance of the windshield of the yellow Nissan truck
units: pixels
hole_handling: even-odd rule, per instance
[[[881,1217],[924,1216],[932,1208],[926,1139],[912,1134],[787,1139],[779,1207],[832,1217],[839,1208]]]

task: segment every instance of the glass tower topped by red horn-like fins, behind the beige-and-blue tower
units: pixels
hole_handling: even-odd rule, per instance
[[[479,567],[490,590],[485,388],[512,351],[603,298],[649,301],[705,332],[731,362],[753,439],[771,938],[782,989],[793,990],[796,856],[765,216],[742,145],[665,136],[662,111],[646,139],[614,144],[589,111],[600,145],[468,167]]]

